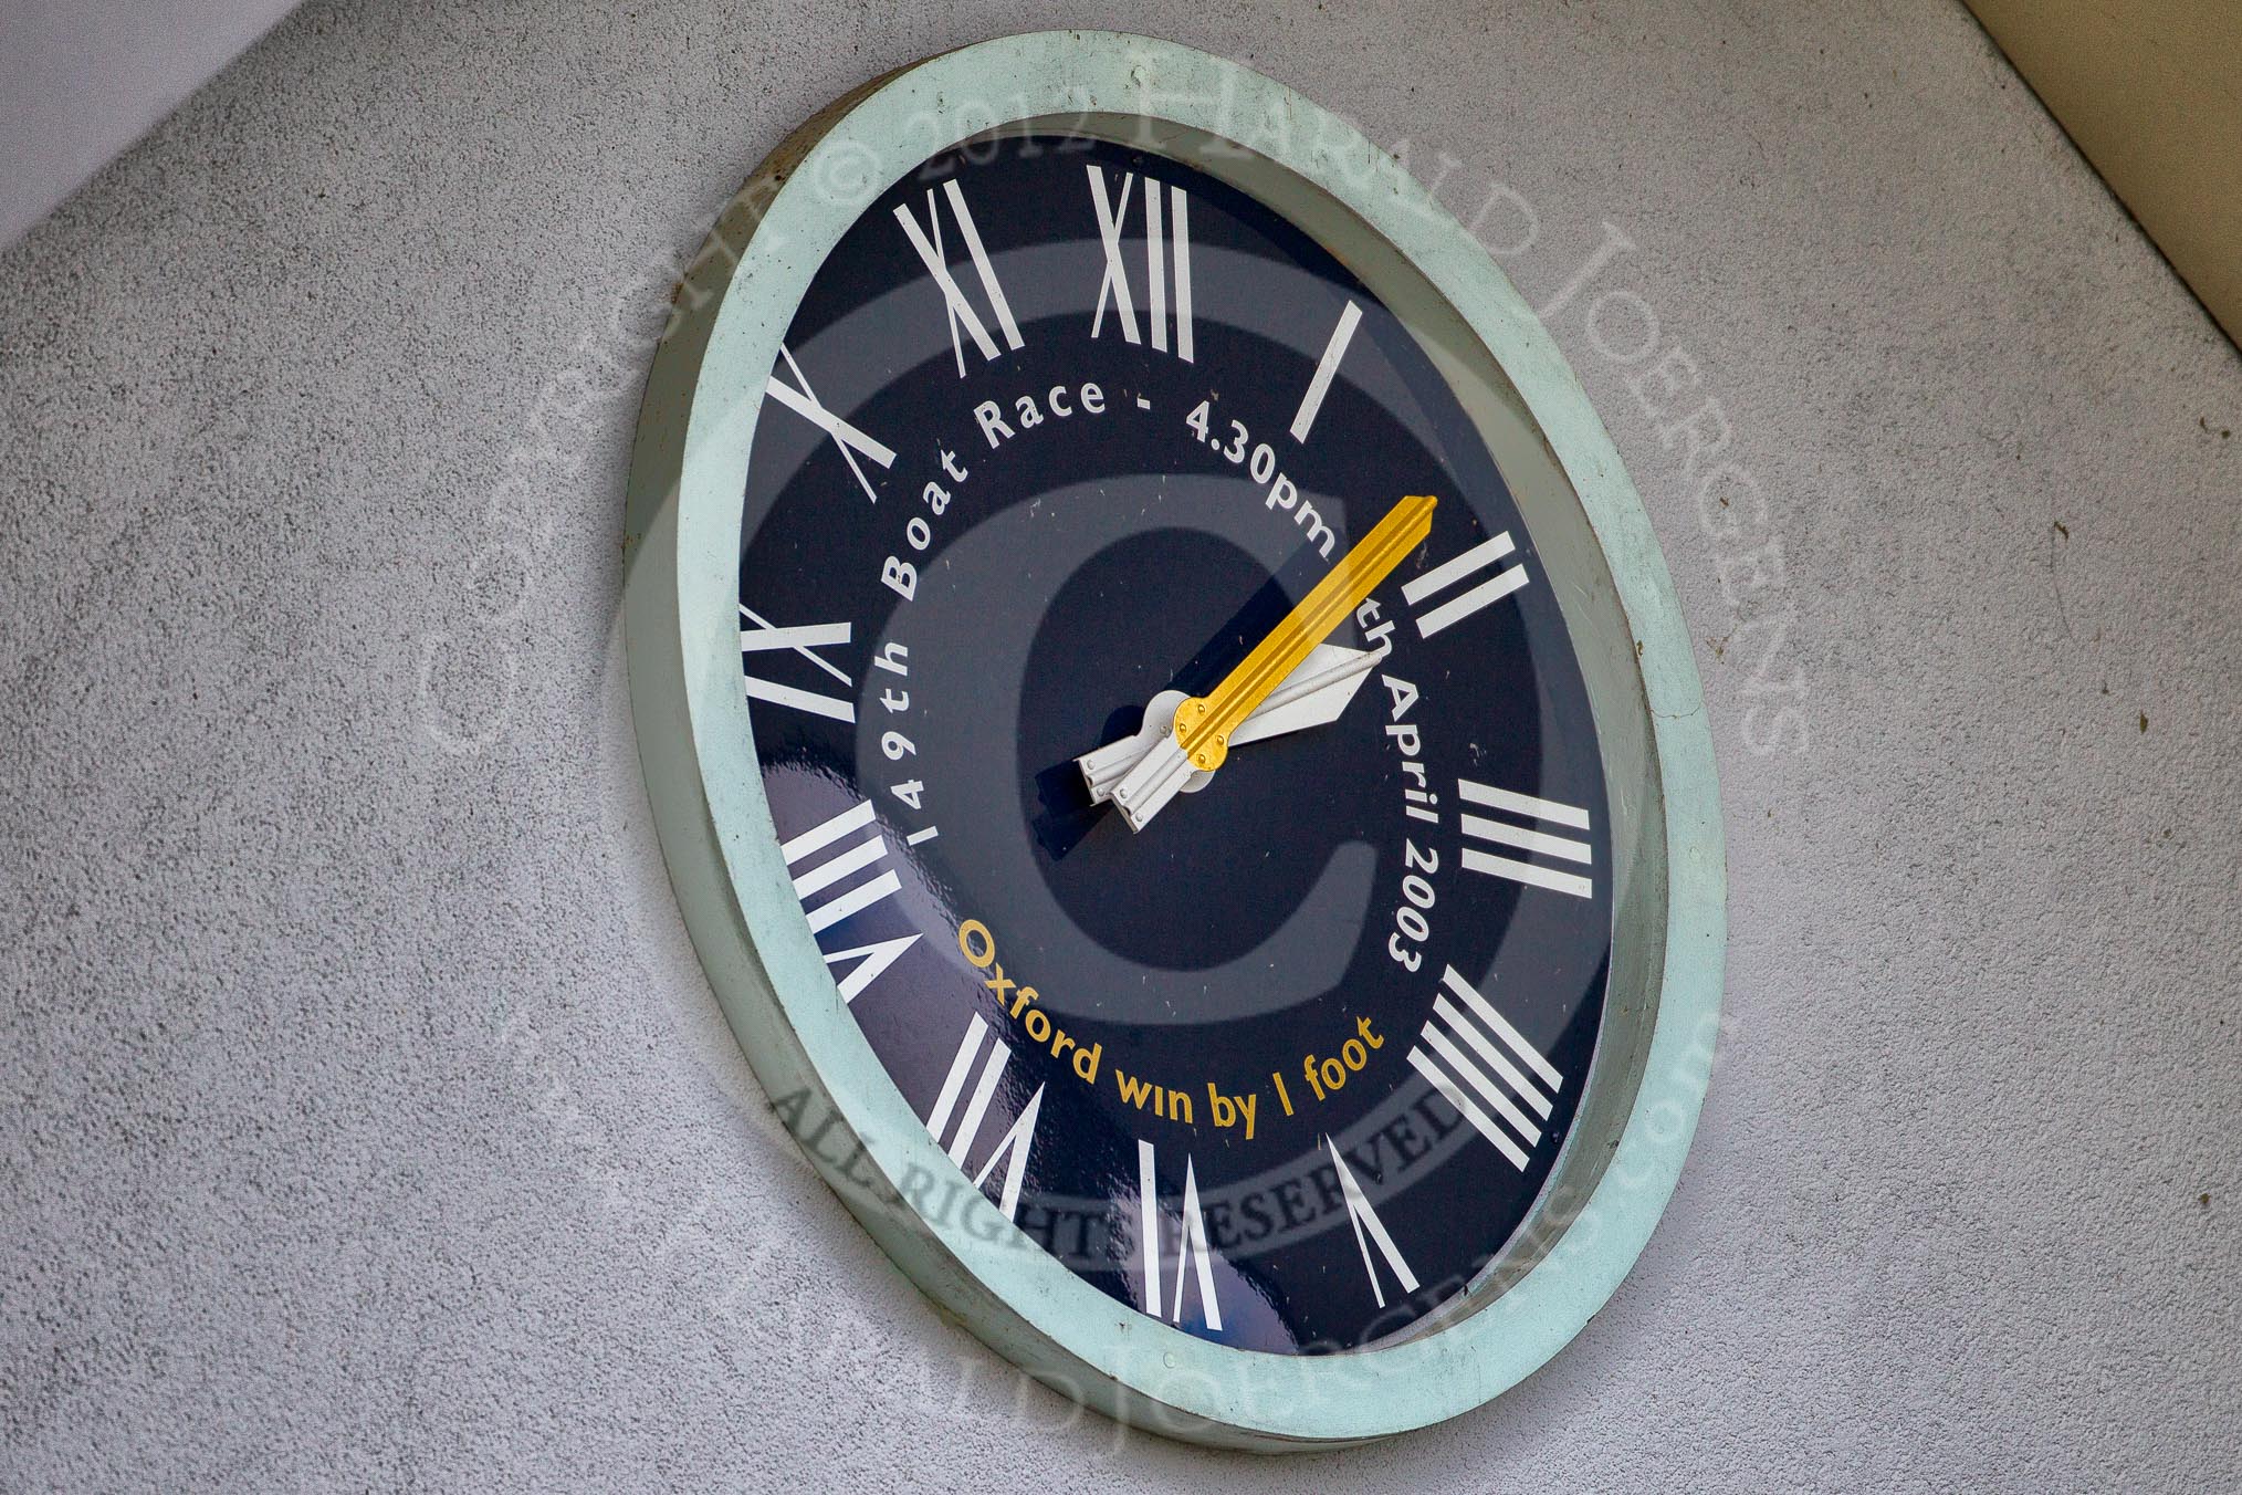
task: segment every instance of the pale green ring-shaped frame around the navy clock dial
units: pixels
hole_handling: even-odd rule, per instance
[[[1632,1103],[1614,1092],[1616,1141],[1601,1143],[1612,1157],[1554,1246],[1482,1309],[1388,1347],[1276,1356],[1211,1345],[1078,1280],[973,1190],[951,1190],[962,1204],[937,1217],[899,1204],[895,1188],[912,1170],[946,1177],[951,1163],[834,991],[762,793],[740,688],[740,500],[765,377],[794,307],[861,211],[924,159],[1018,121],[1083,114],[1251,141],[1406,256],[1540,426],[1639,659],[1664,811],[1650,834],[1664,832],[1666,847],[1664,879],[1650,883],[1664,894],[1666,941],[1646,977],[1655,1018],[1639,1085]],[[756,1076],[791,1114],[836,1118],[861,1143],[843,1150],[827,1136],[809,1154],[886,1253],[1029,1374],[1170,1437],[1262,1450],[1356,1443],[1455,1417],[1529,1376],[1643,1251],[1682,1172],[1720,1022],[1720,796],[1688,637],[1641,500],[1549,334],[1473,238],[1338,117],[1188,47],[1043,31],[904,67],[796,130],[733,197],[677,287],[632,462],[626,630],[670,881]]]

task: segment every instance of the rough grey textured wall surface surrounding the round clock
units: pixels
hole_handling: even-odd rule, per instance
[[[1117,1439],[776,1130],[630,742],[643,334],[843,90],[1117,20],[314,4],[0,253],[0,1484],[2242,1484],[2242,370],[1942,0],[1125,18],[1484,208],[1699,639],[1731,1022],[1569,1352]]]

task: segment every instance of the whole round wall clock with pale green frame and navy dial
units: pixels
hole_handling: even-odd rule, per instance
[[[1350,126],[1114,34],[865,85],[679,285],[628,527],[693,941],[989,1345],[1303,1448],[1614,1291],[1720,1002],[1699,686],[1578,383]]]

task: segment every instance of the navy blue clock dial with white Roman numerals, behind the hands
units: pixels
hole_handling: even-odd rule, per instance
[[[1403,495],[1430,536],[1132,827],[1083,760]],[[1244,1349],[1480,1280],[1596,1056],[1610,805],[1558,587],[1410,327],[1197,166],[980,141],[823,260],[742,520],[787,872],[953,1163],[912,1204]]]

